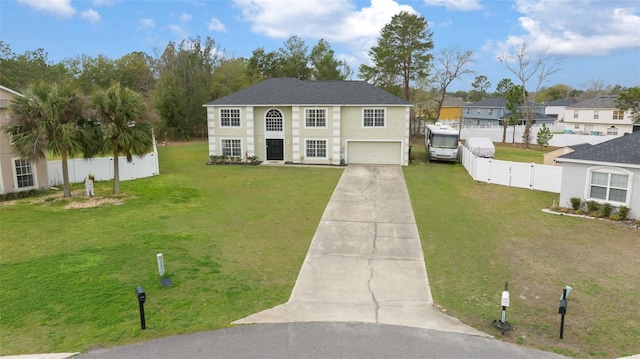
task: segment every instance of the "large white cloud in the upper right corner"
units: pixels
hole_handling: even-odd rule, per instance
[[[609,55],[640,48],[640,16],[628,1],[518,0],[521,36],[499,43],[501,51],[526,42],[553,55]]]

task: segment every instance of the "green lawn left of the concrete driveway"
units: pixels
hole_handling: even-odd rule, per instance
[[[159,148],[161,175],[122,182],[122,205],[3,204],[0,355],[216,329],[288,299],[342,169],[206,166],[206,146]]]

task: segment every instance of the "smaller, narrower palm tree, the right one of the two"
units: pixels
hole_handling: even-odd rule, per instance
[[[119,83],[93,96],[93,106],[103,134],[100,152],[113,154],[113,194],[120,193],[119,156],[127,161],[153,149],[151,125],[141,122],[144,116],[142,96]]]

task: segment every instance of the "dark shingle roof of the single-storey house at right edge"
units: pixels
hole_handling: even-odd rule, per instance
[[[624,163],[640,165],[640,131],[614,138],[593,146],[558,156],[558,162],[569,159],[578,161]]]

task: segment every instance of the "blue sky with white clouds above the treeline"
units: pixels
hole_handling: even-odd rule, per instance
[[[86,54],[112,59],[164,49],[169,41],[211,36],[232,57],[277,50],[291,35],[309,50],[320,38],[357,71],[393,14],[420,14],[433,54],[471,50],[476,73],[450,90],[470,90],[476,75],[516,81],[498,57],[526,42],[557,57],[544,85],[640,85],[639,0],[0,0],[0,39],[16,53],[43,48],[53,62]],[[354,79],[356,79],[354,77]]]

